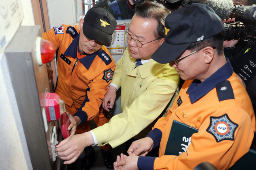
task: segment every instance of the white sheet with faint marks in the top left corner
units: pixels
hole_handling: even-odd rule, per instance
[[[15,35],[22,19],[21,0],[0,0],[0,53]]]

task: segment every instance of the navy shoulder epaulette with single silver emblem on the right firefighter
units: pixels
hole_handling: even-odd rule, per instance
[[[219,101],[235,99],[230,81],[228,80],[222,81],[216,84],[215,87],[217,90]]]

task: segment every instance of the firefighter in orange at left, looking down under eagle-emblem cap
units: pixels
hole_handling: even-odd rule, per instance
[[[115,69],[105,46],[111,45],[116,25],[109,11],[92,7],[79,25],[63,24],[42,34],[58,51],[55,93],[79,125],[77,134],[89,131],[88,121],[95,117],[97,126],[109,121],[109,115],[99,114],[99,109]]]

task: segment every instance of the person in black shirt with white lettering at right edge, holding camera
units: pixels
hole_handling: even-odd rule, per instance
[[[256,0],[233,0],[234,5],[252,5],[256,4]],[[232,14],[234,21],[241,21],[245,26],[253,25],[255,22],[239,17],[237,14]],[[256,39],[249,41],[230,40],[224,42],[224,54],[230,59],[230,63],[234,68],[234,72],[243,80],[246,91],[248,92],[254,112],[256,112]],[[256,141],[254,142],[256,149]]]

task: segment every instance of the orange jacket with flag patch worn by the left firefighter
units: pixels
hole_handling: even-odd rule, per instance
[[[75,106],[72,115],[81,123],[93,119],[112,80],[115,61],[103,46],[99,51],[78,59],[80,55],[78,25],[60,25],[43,33],[43,39],[53,43],[57,54],[58,79],[56,94],[68,107]]]

